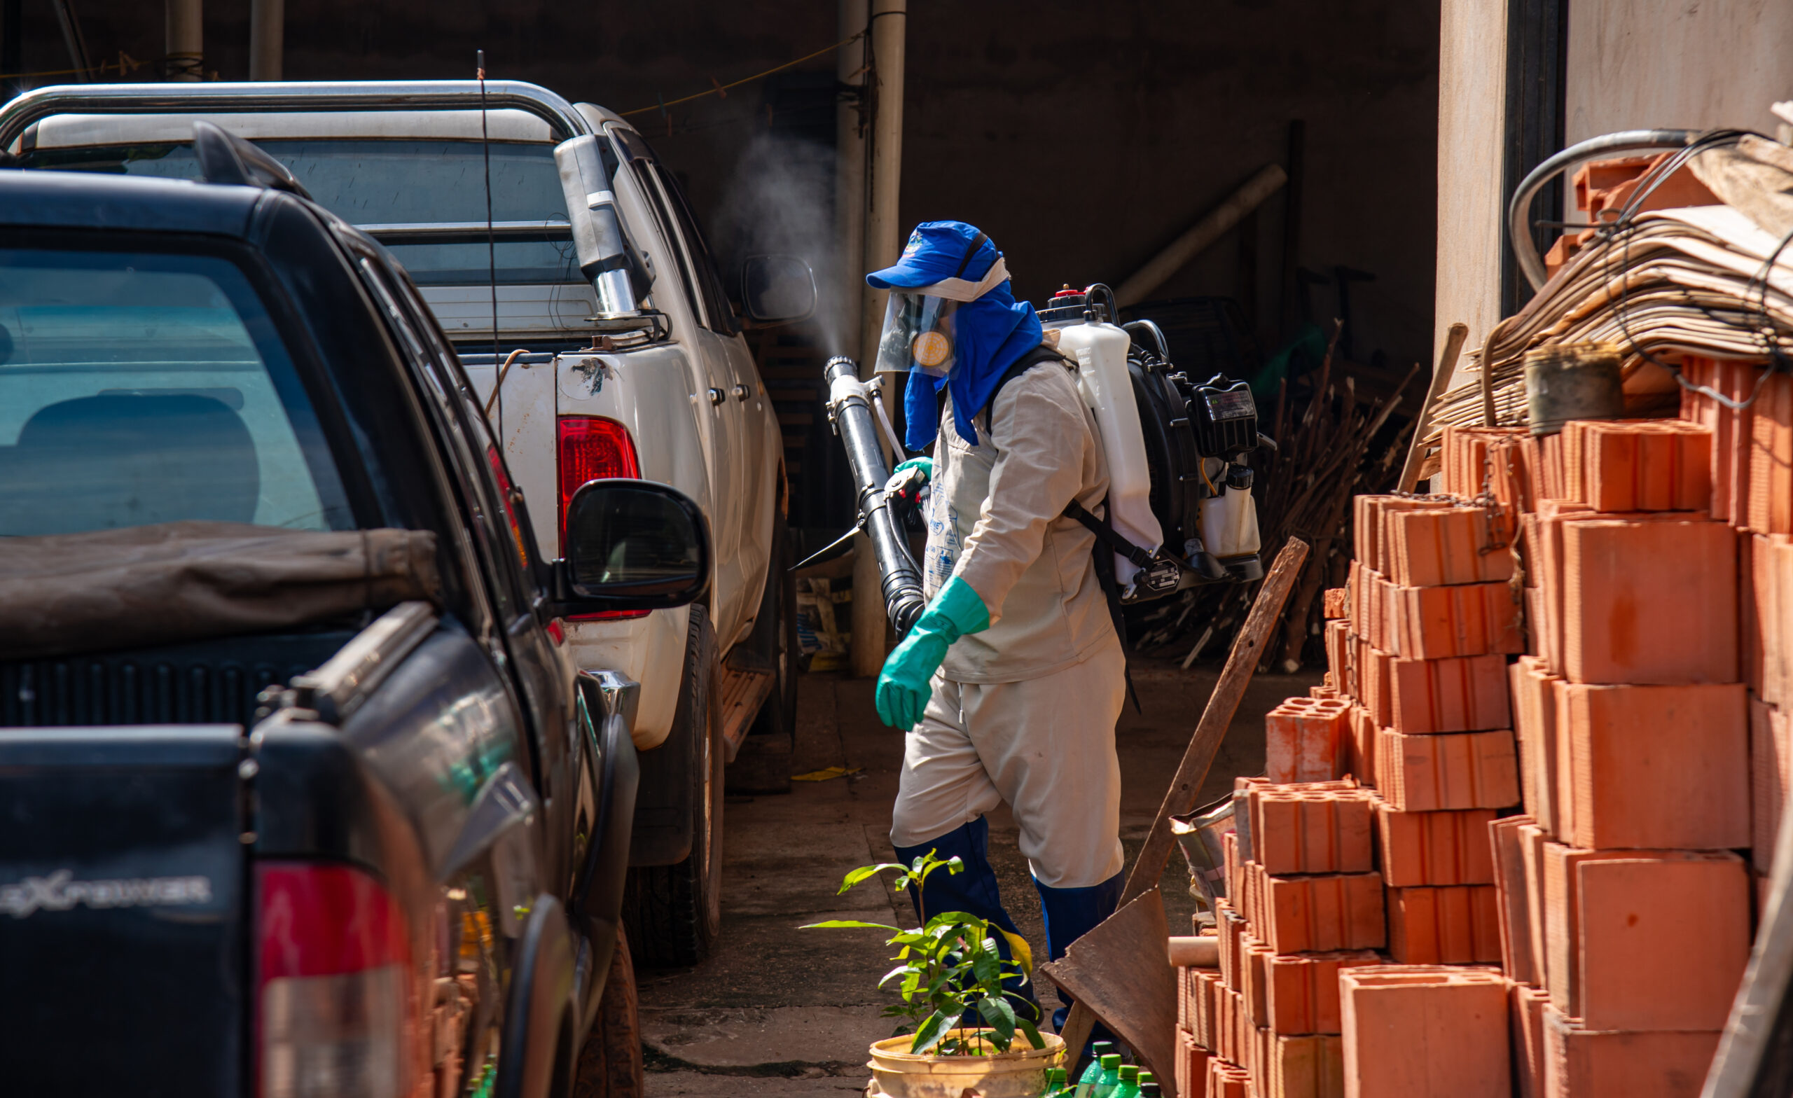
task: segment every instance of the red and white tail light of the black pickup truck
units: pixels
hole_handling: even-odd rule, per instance
[[[260,893],[260,1098],[409,1091],[411,944],[398,904],[341,865],[265,863]]]

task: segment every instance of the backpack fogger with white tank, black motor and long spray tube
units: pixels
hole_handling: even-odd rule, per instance
[[[1257,429],[1257,404],[1244,380],[1194,380],[1171,364],[1164,332],[1149,319],[1115,325],[1113,292],[1101,283],[1065,287],[1040,309],[1042,350],[1009,368],[1000,386],[1042,362],[1076,364],[1108,461],[1103,515],[1076,502],[1110,560],[1097,574],[1122,605],[1160,599],[1205,583],[1260,580],[1257,502],[1248,456],[1275,443]],[[859,526],[871,538],[884,605],[898,635],[922,615],[922,571],[909,553],[904,499],[888,490],[879,443],[884,420],[879,380],[861,382],[852,359],[830,359],[828,420],[846,445],[859,501]],[[995,398],[992,396],[992,405]],[[821,554],[818,554],[821,556]],[[1112,567],[1110,567],[1112,562]]]

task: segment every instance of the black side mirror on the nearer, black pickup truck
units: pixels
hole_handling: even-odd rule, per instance
[[[653,481],[588,481],[567,504],[561,553],[556,615],[685,606],[710,587],[703,511]]]

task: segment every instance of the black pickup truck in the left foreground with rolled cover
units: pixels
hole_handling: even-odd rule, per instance
[[[253,145],[0,170],[0,1091],[633,1094],[635,684],[696,506],[565,560],[391,257]]]

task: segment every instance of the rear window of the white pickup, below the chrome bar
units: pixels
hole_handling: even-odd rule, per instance
[[[418,285],[583,282],[554,147],[491,142],[495,255],[486,255],[486,156],[461,140],[262,140],[321,206],[380,235]],[[39,149],[25,167],[197,179],[190,144]],[[400,235],[402,233],[402,235]]]

